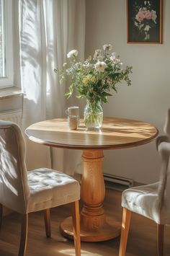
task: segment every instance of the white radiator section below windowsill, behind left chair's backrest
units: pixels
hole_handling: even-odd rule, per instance
[[[12,121],[14,123],[17,123],[17,125],[21,125],[22,120],[22,110],[10,110],[6,112],[0,112],[0,119],[1,120],[8,120]]]

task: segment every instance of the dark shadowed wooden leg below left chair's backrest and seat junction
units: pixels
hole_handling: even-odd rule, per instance
[[[27,248],[28,214],[22,214],[21,239],[18,256],[24,256]]]

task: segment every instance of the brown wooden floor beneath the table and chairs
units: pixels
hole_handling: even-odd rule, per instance
[[[115,219],[121,221],[121,192],[107,190],[104,207]],[[65,239],[59,231],[60,222],[70,215],[69,206],[60,206],[51,211],[52,237],[45,237],[42,212],[30,213],[26,256],[75,255],[73,241]],[[0,231],[0,256],[17,256],[19,244],[19,214],[4,217]],[[81,242],[81,255],[118,255],[120,237],[107,242]],[[170,226],[166,226],[164,241],[165,256],[170,256]],[[128,239],[127,256],[156,256],[156,224],[133,213]]]

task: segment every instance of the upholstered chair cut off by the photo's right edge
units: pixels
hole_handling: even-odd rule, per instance
[[[119,256],[125,255],[131,212],[152,219],[157,224],[158,256],[164,255],[164,225],[170,224],[170,143],[164,136],[157,142],[161,155],[160,180],[150,185],[130,187],[122,193],[122,231]]]

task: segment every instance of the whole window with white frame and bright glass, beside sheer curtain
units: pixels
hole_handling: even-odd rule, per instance
[[[0,87],[13,86],[12,0],[0,0]]]

